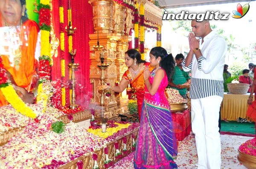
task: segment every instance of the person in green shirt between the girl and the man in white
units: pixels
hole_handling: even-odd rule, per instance
[[[189,79],[189,73],[185,72],[182,68],[182,61],[184,59],[183,54],[177,54],[175,57],[176,66],[175,66],[175,73],[172,76],[172,79],[169,81],[169,86],[179,91],[180,95],[186,99],[186,88],[181,87],[180,85],[186,83]]]

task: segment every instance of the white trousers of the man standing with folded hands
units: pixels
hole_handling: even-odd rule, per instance
[[[192,131],[195,133],[198,169],[221,168],[221,137],[218,119],[222,97],[191,99]]]

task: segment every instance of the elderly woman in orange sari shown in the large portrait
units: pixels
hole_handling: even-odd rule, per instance
[[[26,17],[26,0],[0,0],[0,27],[1,30],[8,29],[7,36],[1,37],[2,40],[6,44],[12,44],[7,46],[12,50],[0,50],[3,67],[20,98],[27,103],[33,103],[38,85],[38,61],[35,59],[35,52],[39,26]],[[5,46],[1,48],[6,49]],[[0,92],[0,106],[7,104],[8,101]]]

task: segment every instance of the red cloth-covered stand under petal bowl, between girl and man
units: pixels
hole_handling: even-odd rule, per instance
[[[183,112],[172,113],[172,120],[177,141],[183,141],[183,139],[188,136],[192,130],[189,109]]]

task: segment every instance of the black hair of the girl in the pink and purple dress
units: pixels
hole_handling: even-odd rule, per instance
[[[172,54],[167,54],[165,48],[162,48],[160,46],[152,48],[150,54],[152,54],[156,58],[161,58],[159,66],[166,71],[168,81],[172,79],[172,74],[174,73],[175,68],[175,61]]]

